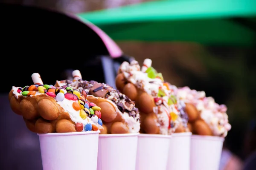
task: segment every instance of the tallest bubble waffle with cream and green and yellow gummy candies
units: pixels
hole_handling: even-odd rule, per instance
[[[123,62],[116,76],[116,87],[135,101],[141,115],[140,133],[172,134],[185,128],[179,123],[177,100],[164,82],[161,73],[151,67],[151,59],[145,59],[143,66],[137,61]],[[179,127],[180,126],[180,127]]]

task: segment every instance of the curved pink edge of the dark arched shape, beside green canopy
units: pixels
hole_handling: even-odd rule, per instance
[[[86,24],[88,27],[90,27],[93,31],[96,32],[96,34],[99,35],[99,37],[102,39],[104,44],[106,45],[106,48],[108,49],[109,55],[112,58],[117,58],[122,56],[123,52],[119,48],[119,46],[114,42],[104,31],[102,31],[99,27],[95,26],[93,23],[90,23],[87,20],[80,19],[78,16],[73,14],[67,14],[68,16],[81,21],[82,23]]]

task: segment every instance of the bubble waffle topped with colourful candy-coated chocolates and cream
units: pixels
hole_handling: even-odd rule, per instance
[[[12,111],[23,116],[35,133],[97,131],[104,128],[95,116],[84,111],[84,95],[70,87],[43,85],[38,73],[32,74],[34,85],[12,87],[9,102]]]

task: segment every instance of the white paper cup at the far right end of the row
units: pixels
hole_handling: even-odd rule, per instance
[[[224,138],[191,136],[190,170],[218,170]]]

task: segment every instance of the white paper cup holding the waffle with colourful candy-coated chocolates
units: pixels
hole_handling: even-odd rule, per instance
[[[96,170],[99,132],[38,134],[44,170]]]

